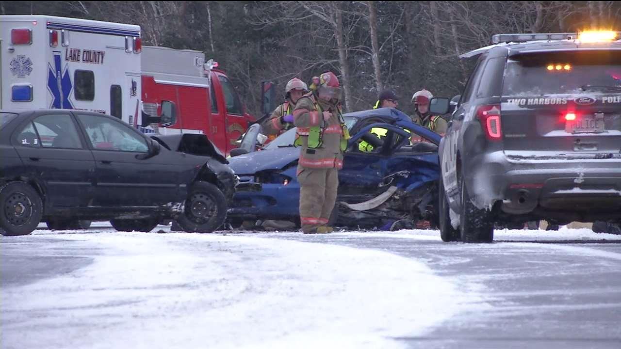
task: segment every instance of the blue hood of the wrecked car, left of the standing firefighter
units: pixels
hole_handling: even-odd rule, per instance
[[[229,159],[230,168],[235,174],[255,174],[256,171],[280,170],[300,156],[300,148],[283,147],[273,150],[260,150]]]

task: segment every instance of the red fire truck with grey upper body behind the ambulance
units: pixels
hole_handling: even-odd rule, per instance
[[[229,154],[254,119],[217,62],[195,50],[142,47],[143,110],[160,116],[160,134],[206,134]],[[144,119],[144,118],[143,118]]]

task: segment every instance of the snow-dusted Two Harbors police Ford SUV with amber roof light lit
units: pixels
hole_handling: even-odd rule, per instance
[[[499,34],[440,143],[442,240],[494,226],[621,222],[621,32]],[[444,114],[450,101],[435,98]]]

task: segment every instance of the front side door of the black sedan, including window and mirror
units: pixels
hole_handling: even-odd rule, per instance
[[[168,156],[145,158],[147,137],[109,116],[77,112],[76,117],[97,168],[96,206],[153,207],[175,201],[181,170]]]

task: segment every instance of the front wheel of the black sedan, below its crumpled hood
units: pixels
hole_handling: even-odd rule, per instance
[[[176,222],[186,232],[211,233],[227,217],[227,199],[214,184],[196,182],[190,190],[183,214]]]

